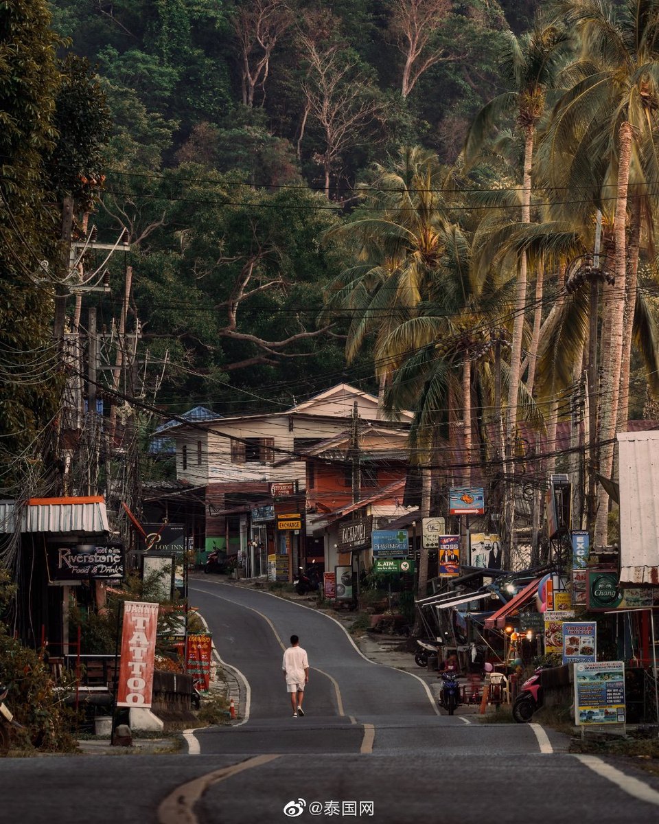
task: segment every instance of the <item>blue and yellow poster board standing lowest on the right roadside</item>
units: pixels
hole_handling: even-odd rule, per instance
[[[624,661],[578,663],[574,706],[577,724],[624,723]]]

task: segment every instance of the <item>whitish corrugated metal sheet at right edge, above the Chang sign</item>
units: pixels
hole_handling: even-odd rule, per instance
[[[620,583],[659,583],[659,431],[618,433]]]

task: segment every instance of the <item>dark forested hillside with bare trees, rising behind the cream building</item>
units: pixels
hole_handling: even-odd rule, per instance
[[[55,30],[96,67],[110,108],[91,219],[106,235],[129,229],[124,265],[154,381],[167,361],[159,402],[253,400],[232,386],[288,404],[341,377],[372,381],[362,355],[345,369],[345,322],[317,323],[345,262],[320,238],[400,145],[455,161],[470,119],[499,91],[505,31],[527,26],[534,7],[52,2]],[[106,323],[123,293],[116,260],[111,276]]]

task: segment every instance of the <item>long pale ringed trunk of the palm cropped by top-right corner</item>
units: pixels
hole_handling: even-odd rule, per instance
[[[632,157],[632,127],[627,121],[620,126],[618,191],[615,203],[615,286],[611,290],[610,344],[609,358],[605,369],[602,424],[600,433],[600,472],[610,477],[613,468],[615,430],[618,423],[620,388],[620,366],[623,350],[624,299],[627,269],[627,192],[629,189],[629,164]],[[600,485],[597,495],[597,517],[595,524],[595,545],[602,546],[608,541],[609,496]]]

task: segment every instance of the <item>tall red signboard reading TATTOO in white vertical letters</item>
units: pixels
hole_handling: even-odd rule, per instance
[[[151,706],[157,625],[157,604],[124,602],[118,707]]]

